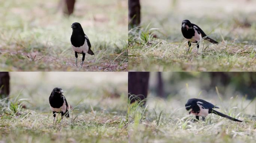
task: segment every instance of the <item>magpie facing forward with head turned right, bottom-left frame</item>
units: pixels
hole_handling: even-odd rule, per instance
[[[50,107],[53,112],[54,120],[57,113],[61,113],[61,119],[64,115],[65,117],[69,117],[68,103],[62,93],[64,93],[64,91],[61,88],[54,88],[49,97]]]

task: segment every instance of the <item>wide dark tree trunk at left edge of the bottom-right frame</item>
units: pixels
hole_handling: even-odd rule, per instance
[[[138,95],[137,98],[132,98],[130,103],[141,101],[147,98],[149,86],[149,72],[129,72],[128,73],[128,99],[131,95]],[[145,104],[145,102],[144,102]]]

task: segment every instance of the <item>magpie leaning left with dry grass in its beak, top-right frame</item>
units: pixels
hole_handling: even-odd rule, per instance
[[[209,38],[199,26],[191,23],[189,20],[182,21],[182,35],[188,41],[189,48],[191,46],[191,42],[193,42],[196,43],[197,50],[199,48],[199,41],[201,38],[204,38],[213,44],[219,44],[217,41]]]

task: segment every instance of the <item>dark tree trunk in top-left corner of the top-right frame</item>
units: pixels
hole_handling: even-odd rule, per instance
[[[128,0],[129,28],[140,25],[140,0]]]

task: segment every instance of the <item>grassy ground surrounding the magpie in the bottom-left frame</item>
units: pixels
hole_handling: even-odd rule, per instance
[[[127,73],[11,73],[11,79],[10,100],[0,100],[0,142],[127,142]],[[53,124],[48,98],[56,86],[73,109],[71,118]]]

